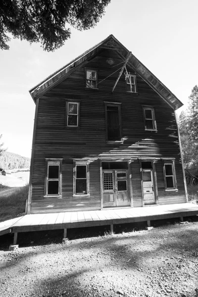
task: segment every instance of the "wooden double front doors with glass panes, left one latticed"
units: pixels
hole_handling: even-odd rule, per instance
[[[103,207],[130,205],[127,170],[103,170]]]

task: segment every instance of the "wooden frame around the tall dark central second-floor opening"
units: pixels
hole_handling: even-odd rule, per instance
[[[106,142],[107,143],[123,143],[123,135],[122,135],[122,115],[121,115],[121,102],[109,102],[104,101],[105,107],[105,127],[106,127]],[[108,121],[107,121],[107,107],[113,106],[118,107],[118,116],[119,116],[119,128],[120,128],[120,140],[108,140]]]

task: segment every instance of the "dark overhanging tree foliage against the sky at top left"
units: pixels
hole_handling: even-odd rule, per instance
[[[9,49],[11,34],[44,50],[60,48],[70,38],[65,25],[93,28],[110,0],[0,0],[0,49]]]

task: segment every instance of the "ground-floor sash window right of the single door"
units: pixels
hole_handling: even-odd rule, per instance
[[[172,159],[163,159],[165,190],[177,190],[175,162]]]

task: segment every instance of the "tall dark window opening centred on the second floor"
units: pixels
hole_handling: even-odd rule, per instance
[[[104,102],[106,118],[106,139],[121,141],[121,103]]]

